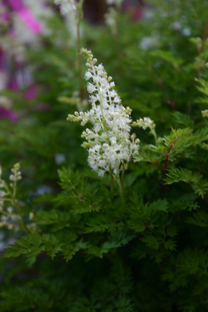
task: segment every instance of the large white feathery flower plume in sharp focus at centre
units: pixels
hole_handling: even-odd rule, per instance
[[[102,64],[96,65],[91,51],[82,49],[81,53],[87,60],[85,79],[92,108],[68,115],[67,120],[81,121],[83,126],[88,122],[92,124],[91,129],[82,133],[86,140],[83,147],[89,152],[88,163],[100,177],[105,172],[118,177],[122,164],[126,169],[131,155],[138,153],[140,140],[135,134],[130,135],[131,110],[121,105],[112,77],[107,76]]]

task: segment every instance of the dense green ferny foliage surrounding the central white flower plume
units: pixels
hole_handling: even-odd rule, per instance
[[[125,203],[88,167],[82,127],[66,122],[76,108],[57,100],[78,89],[76,48],[58,15],[45,49],[28,51],[38,98],[5,91],[21,118],[0,123],[3,176],[20,161],[18,199],[37,230],[2,230],[15,242],[0,260],[1,311],[208,309],[208,3],[151,0],[147,8],[137,22],[119,14],[117,41],[83,21],[82,46],[113,77],[133,119],[152,118],[160,137],[155,144],[135,130],[141,148]]]

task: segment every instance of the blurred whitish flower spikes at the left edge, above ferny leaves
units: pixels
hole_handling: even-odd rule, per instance
[[[8,185],[2,179],[2,167],[0,166],[0,227],[7,227],[9,230],[18,230],[20,225],[25,227],[16,199],[17,182],[22,179],[19,169],[20,165],[16,163],[11,169],[10,185]],[[31,213],[29,220],[31,220]],[[27,229],[32,229],[35,226],[34,223],[27,224]]]

